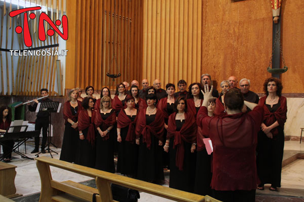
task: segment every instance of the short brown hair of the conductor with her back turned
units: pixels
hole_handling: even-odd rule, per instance
[[[230,89],[224,96],[224,103],[230,110],[241,110],[244,105],[243,93],[238,89]]]

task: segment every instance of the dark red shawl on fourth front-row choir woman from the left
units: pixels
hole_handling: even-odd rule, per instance
[[[134,140],[135,140],[135,125],[136,125],[137,118],[138,118],[137,115],[138,115],[138,113],[136,114],[134,121],[131,121],[130,118],[126,115],[125,110],[121,110],[117,117],[117,127],[118,128],[125,128],[125,127],[129,126],[126,141],[129,141],[131,143],[134,143]]]

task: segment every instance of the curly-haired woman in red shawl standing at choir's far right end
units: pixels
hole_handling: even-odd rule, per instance
[[[270,190],[281,187],[281,170],[284,151],[284,124],[287,116],[286,97],[282,96],[283,85],[277,78],[268,78],[263,84],[266,96],[258,105],[264,109],[261,130],[258,133],[257,173],[261,180],[258,189],[271,184]]]

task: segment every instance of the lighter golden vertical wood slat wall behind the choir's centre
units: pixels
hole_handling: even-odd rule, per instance
[[[150,84],[199,81],[201,42],[201,0],[143,0],[142,78]]]

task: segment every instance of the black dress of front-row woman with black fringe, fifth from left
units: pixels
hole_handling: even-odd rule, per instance
[[[156,115],[146,115],[146,125],[155,120]],[[163,147],[158,145],[159,140],[151,135],[151,147],[147,148],[146,143],[142,143],[140,137],[138,151],[138,171],[137,178],[149,182],[160,182],[164,180],[164,170],[162,165]]]

